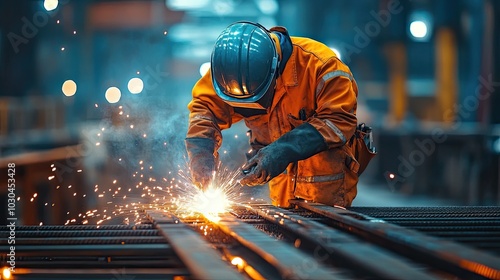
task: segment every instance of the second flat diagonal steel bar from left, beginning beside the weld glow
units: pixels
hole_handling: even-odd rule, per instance
[[[277,241],[232,216],[221,217],[217,226],[274,266],[282,279],[346,279],[342,273],[325,267],[293,246]]]

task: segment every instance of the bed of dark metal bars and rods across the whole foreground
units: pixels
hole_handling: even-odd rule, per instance
[[[500,207],[294,205],[20,226],[12,279],[500,279]],[[3,264],[8,235],[0,227]]]

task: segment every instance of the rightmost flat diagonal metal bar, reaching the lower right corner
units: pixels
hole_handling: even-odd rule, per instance
[[[294,200],[293,204],[321,214],[339,223],[339,226],[365,238],[378,238],[393,249],[408,256],[418,253],[420,260],[439,266],[445,271],[468,277],[500,279],[500,258],[462,246],[458,243],[437,239],[414,230],[389,224],[364,215],[319,203]]]

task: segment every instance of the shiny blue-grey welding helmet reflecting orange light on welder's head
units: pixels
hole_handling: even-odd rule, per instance
[[[274,96],[278,60],[276,42],[262,25],[246,21],[229,25],[212,51],[215,92],[233,107],[267,109]]]

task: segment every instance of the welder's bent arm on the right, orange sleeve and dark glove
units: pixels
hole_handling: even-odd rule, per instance
[[[357,86],[349,69],[332,58],[318,73],[317,80],[311,81],[317,85],[314,92],[316,113],[259,150],[243,166],[246,176],[240,181],[242,185],[265,184],[291,162],[341,147],[351,138],[357,124]]]

